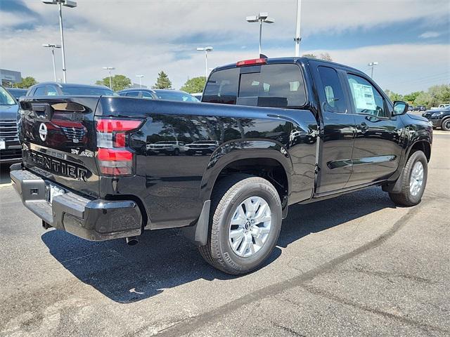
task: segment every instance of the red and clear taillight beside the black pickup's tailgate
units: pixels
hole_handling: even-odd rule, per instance
[[[97,119],[97,162],[105,176],[129,176],[134,171],[134,152],[129,145],[129,133],[143,121],[138,119]]]

